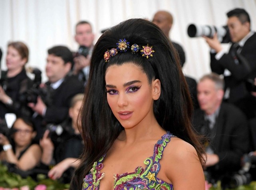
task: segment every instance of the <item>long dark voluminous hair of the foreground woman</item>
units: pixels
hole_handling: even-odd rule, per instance
[[[104,52],[115,48],[117,41],[124,38],[130,45],[153,46],[153,57],[147,59],[128,50],[117,53],[106,63],[103,59]],[[81,109],[81,134],[85,146],[81,164],[71,181],[71,190],[82,188],[83,178],[92,168],[93,162],[98,161],[109,150],[123,130],[107,103],[105,71],[110,65],[127,62],[141,67],[149,81],[161,81],[161,95],[154,102],[154,114],[159,125],[192,144],[201,163],[204,162],[204,150],[191,125],[192,101],[176,50],[155,24],[143,19],[130,19],[107,30],[95,44],[85,91],[86,99]]]

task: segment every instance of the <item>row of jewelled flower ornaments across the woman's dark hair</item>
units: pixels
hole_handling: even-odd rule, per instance
[[[130,43],[125,39],[118,40],[116,45],[117,45],[116,48],[112,48],[110,50],[108,49],[107,51],[105,51],[103,56],[105,62],[108,62],[110,57],[114,57],[118,53],[118,51],[121,53],[121,52],[126,52],[128,49],[130,49]],[[147,59],[149,57],[153,57],[153,53],[155,52],[153,50],[153,46],[149,46],[149,44],[147,44],[147,46],[142,46],[142,48],[140,48],[138,44],[133,44],[131,45],[131,51],[132,53],[141,52],[141,55],[143,57],[146,57]]]

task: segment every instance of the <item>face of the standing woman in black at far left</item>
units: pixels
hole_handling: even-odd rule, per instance
[[[22,69],[25,63],[26,59],[22,59],[18,50],[9,46],[6,56],[6,66],[8,70]]]

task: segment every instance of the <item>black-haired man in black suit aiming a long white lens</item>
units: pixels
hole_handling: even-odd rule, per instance
[[[246,10],[236,8],[229,11],[227,16],[232,41],[228,53],[224,52],[216,35],[213,38],[205,37],[212,48],[210,67],[212,72],[224,75],[224,99],[252,118],[255,117],[252,106],[254,98],[246,90],[246,80],[256,77],[256,33],[250,30],[250,16]]]

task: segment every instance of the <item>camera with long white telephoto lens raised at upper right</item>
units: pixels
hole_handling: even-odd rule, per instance
[[[221,43],[231,42],[228,26],[216,27],[210,25],[190,24],[188,27],[189,37],[206,36],[212,38],[217,33],[217,38]]]

